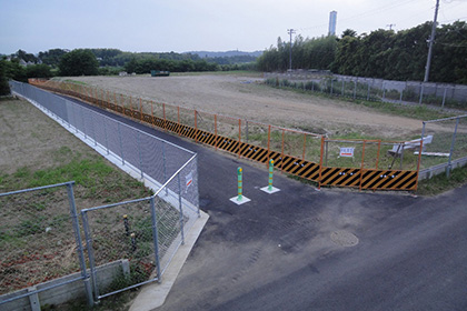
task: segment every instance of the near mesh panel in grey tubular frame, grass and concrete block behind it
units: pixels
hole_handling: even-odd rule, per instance
[[[153,199],[81,211],[95,295],[158,280]]]

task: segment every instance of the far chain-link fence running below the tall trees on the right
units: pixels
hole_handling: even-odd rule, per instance
[[[461,84],[393,81],[329,72],[265,73],[265,78],[267,84],[277,88],[294,88],[371,101],[428,103],[440,108],[467,109],[467,86]]]

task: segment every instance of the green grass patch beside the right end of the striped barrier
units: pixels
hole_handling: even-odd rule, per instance
[[[445,173],[421,180],[418,183],[417,194],[436,195],[467,183],[467,167],[454,169],[450,178]]]

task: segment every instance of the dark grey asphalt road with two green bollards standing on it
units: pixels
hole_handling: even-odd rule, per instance
[[[210,214],[158,310],[467,310],[467,187],[436,198],[316,191],[276,173],[281,191],[267,194],[266,168],[158,136],[198,152]],[[239,207],[238,165],[251,199]]]

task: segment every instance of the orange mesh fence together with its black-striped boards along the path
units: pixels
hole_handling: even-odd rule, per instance
[[[109,91],[72,82],[30,79],[29,83],[52,92],[77,97],[102,109],[266,165],[269,165],[269,161],[274,160],[276,169],[318,182],[319,187],[417,190],[419,156],[411,157],[413,163],[408,169],[405,168],[407,159],[404,160],[400,157],[399,170],[393,169],[397,157],[382,156],[388,153],[388,149],[391,147],[404,142],[331,140],[319,134],[165,103],[145,101],[145,104],[141,99],[109,93]],[[360,144],[361,148],[355,148],[356,144]],[[420,142],[420,150],[421,144],[423,142]],[[340,156],[334,154],[337,152],[336,150],[340,152]],[[351,153],[347,154],[346,150]],[[358,158],[357,163],[355,163],[355,158]],[[381,170],[381,163],[387,165],[388,170]],[[354,168],[346,168],[347,164]]]

